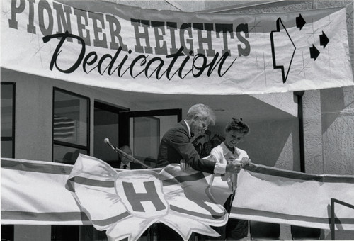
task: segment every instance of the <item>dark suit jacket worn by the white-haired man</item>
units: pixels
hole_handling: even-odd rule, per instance
[[[171,163],[180,163],[181,159],[197,171],[214,173],[215,162],[200,159],[198,152],[190,142],[188,127],[184,120],[169,129],[161,139],[156,167],[166,167]]]

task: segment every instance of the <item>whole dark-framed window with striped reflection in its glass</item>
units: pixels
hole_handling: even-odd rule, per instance
[[[53,161],[74,164],[89,155],[89,98],[57,88],[53,96]]]

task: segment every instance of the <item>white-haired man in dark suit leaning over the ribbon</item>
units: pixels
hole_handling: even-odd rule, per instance
[[[214,125],[215,114],[209,106],[202,103],[189,108],[185,120],[174,125],[161,139],[156,167],[166,167],[171,163],[180,163],[182,159],[195,170],[207,173],[224,174],[239,173],[240,164],[224,164],[201,159],[190,139]],[[177,232],[168,226],[158,223],[159,240],[182,240]]]

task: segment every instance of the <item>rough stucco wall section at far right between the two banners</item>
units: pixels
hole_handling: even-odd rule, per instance
[[[354,174],[354,88],[321,91],[324,173]]]

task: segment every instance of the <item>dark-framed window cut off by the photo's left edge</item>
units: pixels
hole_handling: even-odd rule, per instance
[[[15,84],[1,83],[1,157],[15,157]]]

